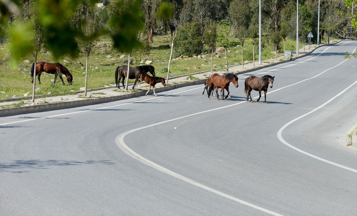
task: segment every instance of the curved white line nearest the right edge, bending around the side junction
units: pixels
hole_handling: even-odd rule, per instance
[[[296,118],[296,119],[294,119],[294,120],[291,120],[291,121],[289,121],[288,123],[286,123],[286,124],[285,124],[282,128],[280,128],[280,130],[278,131],[278,134],[277,134],[278,139],[279,139],[283,144],[289,146],[290,148],[292,148],[292,149],[294,149],[294,150],[296,150],[296,151],[298,151],[298,152],[301,152],[301,153],[303,153],[303,154],[305,154],[305,155],[308,155],[308,156],[310,156],[310,157],[313,157],[313,158],[315,158],[315,159],[317,159],[317,160],[320,160],[320,161],[323,161],[323,162],[326,162],[326,163],[335,165],[335,166],[337,166],[337,167],[341,167],[341,168],[343,168],[343,169],[347,169],[347,170],[349,170],[349,171],[352,171],[352,172],[357,173],[357,170],[356,170],[356,169],[353,169],[353,168],[350,168],[350,167],[346,167],[346,166],[343,166],[343,165],[341,165],[341,164],[338,164],[338,163],[335,163],[335,162],[332,162],[332,161],[328,161],[328,160],[323,159],[323,158],[321,158],[321,157],[317,157],[317,156],[315,156],[315,155],[312,155],[312,154],[310,154],[310,153],[307,153],[307,152],[305,152],[305,151],[302,151],[301,149],[299,149],[299,148],[297,148],[297,147],[295,147],[295,146],[292,146],[291,144],[289,144],[288,142],[286,142],[286,141],[283,139],[283,137],[281,136],[281,133],[283,132],[283,130],[284,130],[287,126],[289,126],[291,123],[293,123],[294,121],[297,121],[297,120],[301,119],[302,117],[305,117],[306,115],[308,115],[308,114],[310,114],[310,113],[313,113],[313,112],[315,112],[316,110],[322,108],[322,107],[325,106],[326,104],[330,103],[333,99],[335,99],[336,97],[340,96],[343,92],[347,91],[349,88],[351,88],[351,87],[352,87],[353,85],[355,85],[356,83],[357,83],[357,81],[355,81],[352,85],[348,86],[345,90],[343,90],[342,92],[338,93],[335,97],[331,98],[331,99],[328,100],[326,103],[322,104],[321,106],[317,107],[316,109],[311,110],[310,112],[308,112],[308,113],[306,113],[306,114],[304,114],[304,115],[301,115],[300,117],[298,117],[298,118]]]

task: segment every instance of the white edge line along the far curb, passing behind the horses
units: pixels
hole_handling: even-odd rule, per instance
[[[330,47],[328,47],[330,48]],[[328,49],[327,48],[327,49]],[[322,53],[324,53],[327,49],[323,50],[320,54],[318,54],[317,56],[321,55]],[[316,58],[317,56],[315,57],[312,57],[310,59],[307,59],[305,61],[308,61],[308,60],[311,60],[313,58]],[[281,68],[275,68],[275,69],[272,69],[270,71],[266,71],[266,72],[262,72],[262,73],[259,73],[259,74],[265,74],[267,72],[271,72],[271,71],[274,71],[274,70],[277,70],[277,69],[282,69],[282,68],[286,68],[286,67],[289,67],[289,66],[292,66],[292,65],[296,65],[296,64],[301,64],[305,61],[302,61],[302,62],[298,62],[298,63],[295,63],[295,64],[291,64],[291,65],[287,65],[287,66],[284,66],[284,67],[281,67]],[[324,71],[325,72],[325,71]],[[259,75],[259,74],[256,74],[256,75]],[[320,74],[319,74],[320,75]],[[248,76],[246,77],[243,77],[241,79],[245,79],[247,78]],[[314,78],[314,77],[313,77]],[[305,81],[305,80],[303,80]],[[296,83],[297,84],[297,83]],[[295,84],[293,84],[295,85]],[[198,88],[202,88],[202,87],[198,87]],[[197,88],[193,88],[193,89],[190,89],[190,90],[187,90],[187,91],[191,91],[191,90],[195,90]],[[276,90],[277,91],[277,90]],[[182,91],[182,92],[186,92],[186,91]],[[178,94],[178,93],[182,93],[182,92],[177,92],[177,93],[173,93],[173,94],[169,94],[169,95],[175,95],[175,94]],[[164,96],[169,96],[169,95],[164,95]],[[160,96],[160,97],[164,97],[164,96]],[[156,99],[156,98],[160,98],[160,97],[155,97],[155,98],[149,98],[149,99],[145,99],[145,100],[142,100],[142,101],[148,101],[148,100],[152,100],[152,99]],[[0,124],[1,125],[7,125],[7,124],[14,124],[14,123],[19,123],[19,122],[24,122],[24,121],[32,121],[32,120],[38,120],[38,119],[45,119],[45,118],[52,118],[52,117],[57,117],[57,116],[61,116],[61,115],[69,115],[69,114],[75,114],[75,113],[82,113],[82,112],[88,112],[88,111],[92,111],[92,110],[97,110],[97,109],[106,109],[106,108],[111,108],[111,107],[117,107],[117,106],[122,106],[122,105],[126,105],[126,104],[131,104],[131,103],[137,103],[137,102],[142,102],[142,101],[136,101],[136,102],[130,102],[130,103],[124,103],[124,104],[119,104],[119,105],[115,105],[115,106],[109,106],[109,107],[102,107],[102,108],[96,108],[96,109],[88,109],[88,110],[82,110],[82,111],[78,111],[78,112],[71,112],[71,113],[64,113],[64,114],[58,114],[58,115],[50,115],[50,116],[46,116],[46,117],[41,117],[41,118],[34,118],[34,119],[26,119],[26,120],[21,120],[21,121],[14,121],[14,122],[9,122],[9,123],[5,123],[5,124]]]

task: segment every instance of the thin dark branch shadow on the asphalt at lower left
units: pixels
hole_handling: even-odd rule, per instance
[[[115,163],[108,160],[101,161],[65,161],[65,160],[14,160],[8,163],[0,163],[0,172],[23,173],[30,172],[24,169],[49,169],[51,166],[79,166],[85,164],[105,164],[113,165]]]

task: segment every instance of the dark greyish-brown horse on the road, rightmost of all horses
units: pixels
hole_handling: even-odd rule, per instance
[[[259,98],[257,99],[257,102],[262,96],[261,91],[264,91],[264,102],[267,103],[268,85],[270,84],[270,87],[271,88],[273,87],[274,77],[275,76],[270,76],[270,75],[265,75],[260,78],[256,76],[248,77],[244,82],[244,93],[247,96],[247,101],[249,102],[249,97],[250,97],[250,101],[253,103],[250,92],[252,90],[255,90],[255,91],[259,91]]]

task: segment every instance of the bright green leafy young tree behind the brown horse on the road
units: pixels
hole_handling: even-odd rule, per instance
[[[226,64],[227,64],[227,72],[228,72],[228,56],[227,56],[227,49],[232,45],[233,38],[236,35],[236,25],[233,24],[231,26],[228,23],[223,23],[219,26],[218,31],[218,42],[220,42],[221,46],[225,49],[226,52]],[[213,56],[212,56],[213,58]]]

